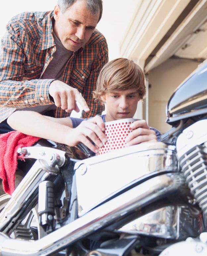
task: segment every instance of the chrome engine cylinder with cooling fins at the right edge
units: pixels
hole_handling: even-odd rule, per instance
[[[180,166],[207,224],[207,120],[200,120],[178,137],[177,151]],[[189,136],[191,134],[191,136]]]

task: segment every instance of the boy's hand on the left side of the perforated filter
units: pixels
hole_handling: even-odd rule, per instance
[[[107,142],[106,136],[103,133],[104,130],[104,122],[100,116],[84,120],[76,128],[70,130],[67,134],[66,144],[76,146],[81,142],[94,153],[97,153],[96,146],[102,147],[103,143]]]

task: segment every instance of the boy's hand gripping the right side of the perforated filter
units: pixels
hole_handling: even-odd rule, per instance
[[[133,131],[131,131],[126,138],[127,143],[125,144],[125,147],[142,142],[157,141],[155,131],[150,130],[145,120],[134,121],[130,127],[133,129]]]

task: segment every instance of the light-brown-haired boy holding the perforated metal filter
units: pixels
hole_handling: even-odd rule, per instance
[[[52,118],[33,111],[16,111],[8,118],[8,124],[22,133],[69,146],[81,142],[97,153],[96,146],[101,147],[107,141],[103,133],[104,122],[132,118],[138,101],[145,96],[145,86],[146,79],[141,67],[132,60],[118,58],[102,68],[93,92],[95,101],[106,103],[106,115],[86,120],[73,117]],[[131,128],[133,131],[125,146],[156,141],[156,136],[160,135],[156,129],[149,128],[145,120],[133,122]]]

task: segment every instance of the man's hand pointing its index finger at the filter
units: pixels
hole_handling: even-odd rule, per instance
[[[57,107],[61,107],[66,112],[75,110],[79,112],[76,101],[80,103],[85,112],[89,112],[90,109],[77,89],[61,82],[60,80],[54,80],[49,86],[49,94],[53,97],[54,103]]]

